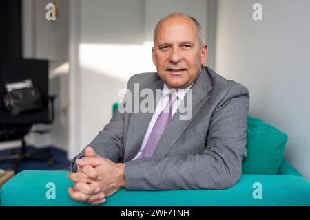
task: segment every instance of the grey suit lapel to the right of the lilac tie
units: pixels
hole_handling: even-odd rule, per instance
[[[192,86],[192,117],[189,120],[180,120],[180,111],[176,111],[172,120],[167,125],[161,140],[158,142],[154,154],[152,157],[163,158],[169,152],[170,148],[177,142],[178,138],[184,133],[185,129],[194,119],[196,113],[199,111],[203,104],[209,99],[209,92],[211,91],[211,80],[205,69],[202,67],[200,75],[198,76],[196,82]],[[189,94],[187,92],[187,94]],[[185,95],[183,102],[180,103],[180,106],[187,107],[187,100],[189,97]]]

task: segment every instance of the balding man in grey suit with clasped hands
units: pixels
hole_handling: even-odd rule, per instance
[[[127,85],[131,92],[136,83],[139,91],[162,89],[155,111],[116,111],[74,158],[72,170],[78,170],[69,175],[72,199],[99,204],[120,188],[224,189],[236,184],[247,155],[249,93],[203,67],[207,52],[196,19],[170,14],[158,22],[152,48],[157,73],[136,74]],[[125,100],[133,96],[129,92]],[[180,120],[178,110],[185,102],[191,117]]]

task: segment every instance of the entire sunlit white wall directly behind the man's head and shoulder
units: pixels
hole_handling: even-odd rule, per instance
[[[70,1],[70,159],[109,122],[128,78],[156,71],[151,47],[158,19],[186,12],[206,27],[206,10],[207,0]]]

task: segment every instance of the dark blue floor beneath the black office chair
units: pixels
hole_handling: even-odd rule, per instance
[[[54,166],[48,166],[48,164],[43,161],[28,160],[25,162],[21,162],[17,166],[16,173],[19,173],[23,170],[62,170],[62,169],[67,169],[70,167],[70,161],[67,159],[67,153],[65,151],[61,151],[52,146],[46,147],[46,148],[50,148],[50,151],[52,152],[52,155],[55,159]],[[28,146],[27,149],[28,149],[28,152],[31,152],[35,148],[32,146]],[[7,155],[8,151],[10,150],[0,151],[0,155]],[[14,148],[14,150],[20,152],[20,148]],[[13,160],[2,161],[0,162],[0,168],[3,170],[8,170],[10,166],[12,165],[12,162]]]

